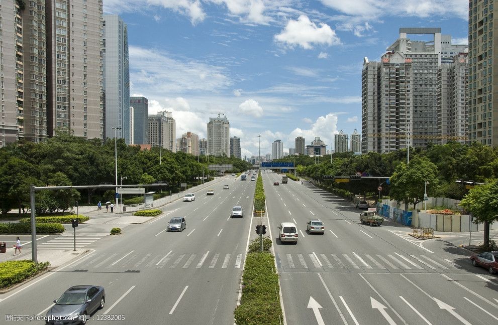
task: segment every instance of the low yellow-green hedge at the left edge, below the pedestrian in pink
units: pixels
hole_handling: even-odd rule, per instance
[[[34,263],[29,260],[0,262],[0,288],[7,288],[13,284],[24,281],[45,270],[49,262]]]

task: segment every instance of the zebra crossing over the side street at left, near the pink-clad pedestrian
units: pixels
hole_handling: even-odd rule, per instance
[[[83,248],[97,240],[111,234],[113,226],[88,226],[76,229],[76,248]],[[60,236],[38,244],[38,249],[72,249],[74,247],[74,234],[65,231]]]

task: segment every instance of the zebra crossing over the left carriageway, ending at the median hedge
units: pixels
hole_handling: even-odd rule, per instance
[[[124,256],[113,254],[90,254],[74,264],[71,269],[118,268],[139,270],[146,268],[193,268],[193,269],[240,269],[244,254],[212,253],[176,253],[169,251],[162,254],[136,253],[131,251]]]

